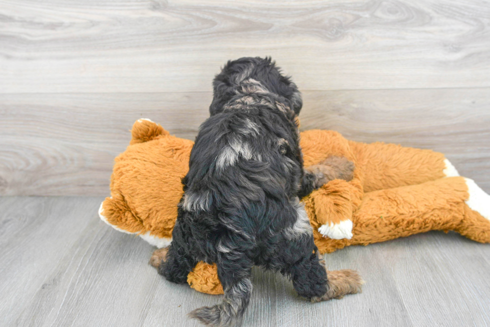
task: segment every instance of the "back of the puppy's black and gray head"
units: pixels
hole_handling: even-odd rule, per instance
[[[270,57],[243,57],[228,63],[214,77],[213,99],[209,113],[214,115],[239,94],[267,93],[288,106],[297,115],[302,107],[301,95],[289,77],[283,76]]]

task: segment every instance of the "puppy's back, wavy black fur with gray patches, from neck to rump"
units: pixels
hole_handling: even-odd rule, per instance
[[[294,197],[300,177],[294,160],[300,154],[292,150],[299,149],[297,142],[290,121],[268,108],[211,116],[200,126],[190,155],[182,208],[211,213],[225,228],[256,234],[274,203]]]

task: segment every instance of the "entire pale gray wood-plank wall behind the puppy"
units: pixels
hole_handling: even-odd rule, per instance
[[[107,195],[134,120],[192,139],[228,59],[271,55],[301,129],[444,152],[490,191],[490,2],[0,2],[0,195]]]

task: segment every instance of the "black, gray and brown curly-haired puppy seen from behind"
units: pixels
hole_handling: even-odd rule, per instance
[[[240,321],[253,265],[288,276],[312,302],[359,292],[355,271],[325,270],[299,202],[329,180],[350,180],[353,164],[330,157],[303,169],[296,123],[301,96],[270,58],[228,61],[213,89],[210,117],[182,179],[172,243],[156,258],[158,273],[186,283],[198,261],[216,263],[223,302],[190,313],[209,326]]]

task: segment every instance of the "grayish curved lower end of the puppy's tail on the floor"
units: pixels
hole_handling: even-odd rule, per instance
[[[196,309],[189,316],[206,326],[234,326],[243,317],[251,292],[250,279],[243,278],[224,291],[223,302]]]

